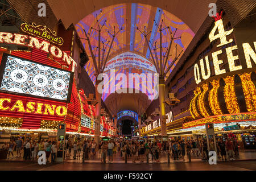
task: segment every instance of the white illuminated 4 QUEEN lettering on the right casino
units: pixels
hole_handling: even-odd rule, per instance
[[[214,27],[209,34],[210,42],[213,42],[214,40],[219,39],[220,44],[218,44],[217,47],[222,47],[222,46],[225,46],[226,44],[232,43],[233,39],[227,40],[226,36],[232,34],[233,28],[231,30],[225,31],[220,15],[218,15],[218,17],[214,19],[216,20],[216,22],[214,22]],[[217,34],[215,34],[216,31],[217,31]],[[246,61],[245,65],[236,65],[234,62],[235,60],[239,59],[238,55],[233,55],[233,51],[239,48],[237,45],[225,48],[226,57],[228,59],[229,72],[238,71],[243,68],[252,68],[251,60],[253,60],[254,63],[256,64],[256,53],[255,53],[256,42],[253,42],[253,44],[254,44],[254,49],[250,46],[249,43],[242,44],[242,49],[243,49],[243,53]],[[227,72],[225,68],[220,69],[220,65],[223,63],[223,60],[219,60],[218,55],[221,55],[222,53],[224,53],[222,52],[222,49],[216,52],[212,52],[212,61],[213,61],[213,67],[214,67],[214,72],[216,76]],[[196,84],[199,84],[202,81],[202,78],[203,80],[207,80],[211,75],[209,56],[205,56],[205,59],[200,59],[199,62],[200,62],[200,65],[195,64],[194,66],[194,75],[195,75]]]

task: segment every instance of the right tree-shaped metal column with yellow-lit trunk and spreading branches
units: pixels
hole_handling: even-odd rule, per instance
[[[155,22],[155,20],[154,20]],[[150,56],[151,56],[151,59],[155,65],[155,68],[156,68],[156,72],[159,74],[159,105],[160,105],[160,122],[161,122],[161,135],[163,136],[166,136],[167,135],[167,131],[166,131],[166,109],[165,109],[165,106],[164,106],[164,92],[165,92],[165,88],[166,88],[166,85],[165,85],[165,81],[164,81],[164,78],[166,77],[167,73],[170,71],[172,65],[174,65],[175,61],[177,59],[179,59],[179,56],[181,54],[181,52],[183,50],[181,50],[181,52],[179,53],[179,55],[177,56],[177,46],[175,47],[176,48],[176,53],[175,53],[175,59],[172,60],[171,64],[168,65],[168,68],[166,68],[166,64],[167,64],[167,61],[168,61],[168,58],[170,57],[170,51],[171,51],[171,46],[172,46],[172,42],[174,39],[180,39],[181,37],[178,37],[178,38],[174,38],[175,34],[176,34],[176,31],[177,31],[177,28],[174,32],[174,35],[172,35],[172,32],[170,30],[170,27],[162,27],[163,25],[163,19],[162,19],[162,22],[160,24],[160,27],[158,26],[158,24],[155,22],[156,26],[158,27],[158,31],[159,31],[159,34],[160,34],[160,40],[159,40],[159,48],[156,47],[156,42],[155,42],[155,47],[154,47],[154,53],[155,53],[155,56],[153,55],[152,53],[152,50],[151,50],[151,47],[150,47],[150,43],[151,42],[148,42],[148,39],[147,39],[147,35],[149,35],[151,32],[149,32],[148,34],[146,33],[146,27],[144,27],[144,31],[142,32],[141,30],[139,30],[139,28],[137,27],[137,30],[141,32],[141,34],[144,36],[145,38],[145,41],[147,43],[147,47],[150,51]],[[169,46],[168,46],[168,49],[165,53],[163,53],[163,45],[162,45],[162,32],[164,30],[166,30],[166,28],[168,28],[168,31],[170,32],[170,35],[171,35],[171,40],[170,40],[170,43],[169,43]],[[151,43],[151,46],[153,47],[152,43]],[[157,52],[159,49],[159,58],[158,58],[158,55],[157,55]],[[165,60],[164,60],[165,58]]]

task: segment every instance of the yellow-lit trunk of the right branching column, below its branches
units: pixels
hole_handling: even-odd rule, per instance
[[[167,136],[166,131],[166,108],[164,106],[164,92],[166,84],[164,84],[164,78],[159,76],[159,105],[160,105],[160,122],[161,122],[161,135]]]

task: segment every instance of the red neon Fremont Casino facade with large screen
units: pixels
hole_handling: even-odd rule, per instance
[[[45,28],[40,31],[53,34]],[[59,123],[66,123],[69,139],[93,138],[94,124],[88,129],[84,120],[89,118],[90,124],[94,123],[94,106],[82,101],[77,89],[74,74],[77,63],[71,57],[72,47],[65,46],[65,39],[63,44],[56,32],[55,37],[62,46],[26,31],[24,35],[0,32],[0,43],[22,47],[17,50],[0,47],[0,147],[19,137],[56,140]],[[102,135],[114,135],[106,118],[102,117],[101,124]]]

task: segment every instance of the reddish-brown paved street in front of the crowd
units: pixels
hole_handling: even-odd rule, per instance
[[[16,156],[16,155],[15,155]],[[171,158],[170,164],[167,163],[167,155],[160,155],[160,163],[152,163],[150,158],[150,164],[139,163],[137,160],[136,164],[131,162],[131,158],[128,159],[127,164],[120,157],[119,154],[114,156],[114,162],[112,164],[102,164],[99,159],[99,155],[91,157],[90,160],[85,160],[85,164],[81,163],[80,159],[65,160],[64,163],[55,163],[47,165],[39,165],[37,162],[26,161],[24,162],[22,158],[13,158],[9,160],[0,160],[0,171],[4,170],[39,170],[39,171],[247,171],[256,170],[256,151],[240,151],[240,155],[236,157],[236,160],[222,162],[219,160],[217,165],[209,165],[208,162],[201,160],[201,156],[192,155],[192,162],[188,162],[187,156],[185,156],[185,161],[183,160],[173,160]]]

